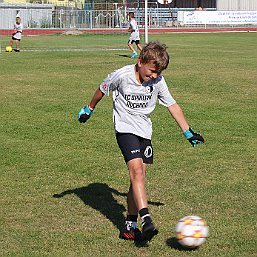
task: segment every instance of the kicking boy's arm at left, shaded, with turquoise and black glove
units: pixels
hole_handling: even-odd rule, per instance
[[[95,107],[97,103],[103,98],[103,92],[98,88],[95,91],[90,103],[83,108],[78,113],[78,120],[80,123],[85,123],[91,117],[91,115],[95,112]]]

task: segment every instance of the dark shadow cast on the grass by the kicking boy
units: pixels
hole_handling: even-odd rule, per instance
[[[84,202],[84,204],[102,213],[119,230],[124,226],[125,217],[123,212],[126,208],[115,200],[113,194],[127,197],[127,193],[119,192],[105,183],[92,183],[85,187],[70,189],[60,194],[54,194],[53,197],[61,198],[70,194],[75,194]],[[160,202],[149,201],[148,203],[155,206],[164,205]]]

